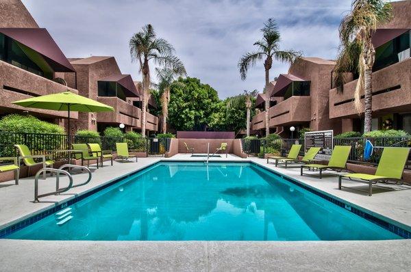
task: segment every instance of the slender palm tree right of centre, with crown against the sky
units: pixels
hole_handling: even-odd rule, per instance
[[[265,89],[270,83],[270,69],[273,66],[273,59],[279,62],[288,62],[292,64],[297,58],[301,56],[301,52],[289,50],[281,51],[279,50],[280,35],[277,23],[273,18],[269,18],[264,27],[261,29],[262,40],[254,43],[257,46],[257,50],[242,55],[240,61],[238,62],[238,68],[240,69],[240,77],[242,80],[247,78],[247,71],[250,67],[255,66],[257,62],[264,59],[265,68]],[[265,127],[266,135],[269,135],[269,108],[270,108],[270,98],[267,97],[265,101]]]

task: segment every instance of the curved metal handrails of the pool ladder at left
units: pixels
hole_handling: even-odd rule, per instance
[[[88,179],[86,180],[86,182],[73,185],[73,176],[71,176],[71,174],[64,169],[68,169],[69,171],[70,169],[84,169],[86,170],[86,172],[88,172]],[[41,195],[39,195],[38,194],[38,178],[40,177],[42,173],[45,173],[45,172],[51,172],[51,173],[56,174],[55,175],[55,191],[50,192],[50,193],[42,193]],[[60,188],[60,174],[64,174],[69,177],[69,186]],[[91,176],[92,174],[90,172],[90,169],[82,165],[64,164],[60,166],[58,169],[49,168],[49,167],[42,168],[38,170],[38,172],[36,173],[36,176],[34,177],[34,202],[38,202],[39,198],[43,198],[48,195],[58,195],[60,193],[69,191],[69,189],[71,188],[86,185],[88,182],[90,182]]]

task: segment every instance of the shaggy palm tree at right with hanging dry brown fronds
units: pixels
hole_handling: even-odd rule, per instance
[[[345,72],[358,71],[354,105],[360,113],[360,98],[364,93],[364,133],[371,131],[372,120],[375,49],[371,38],[377,25],[390,21],[391,17],[391,5],[384,0],[353,0],[351,12],[340,23],[340,53],[334,68],[334,82],[338,92],[343,92]]]

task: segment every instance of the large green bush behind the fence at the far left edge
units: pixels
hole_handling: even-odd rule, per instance
[[[25,133],[55,136],[42,137]],[[32,115],[6,115],[0,120],[0,157],[14,156],[14,144],[25,144],[35,154],[44,150],[62,149],[66,144],[66,137],[63,134],[64,128],[61,126],[38,120]]]

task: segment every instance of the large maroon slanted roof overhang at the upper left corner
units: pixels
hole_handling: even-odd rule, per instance
[[[75,72],[45,28],[0,28],[0,33],[42,55],[55,72]]]

